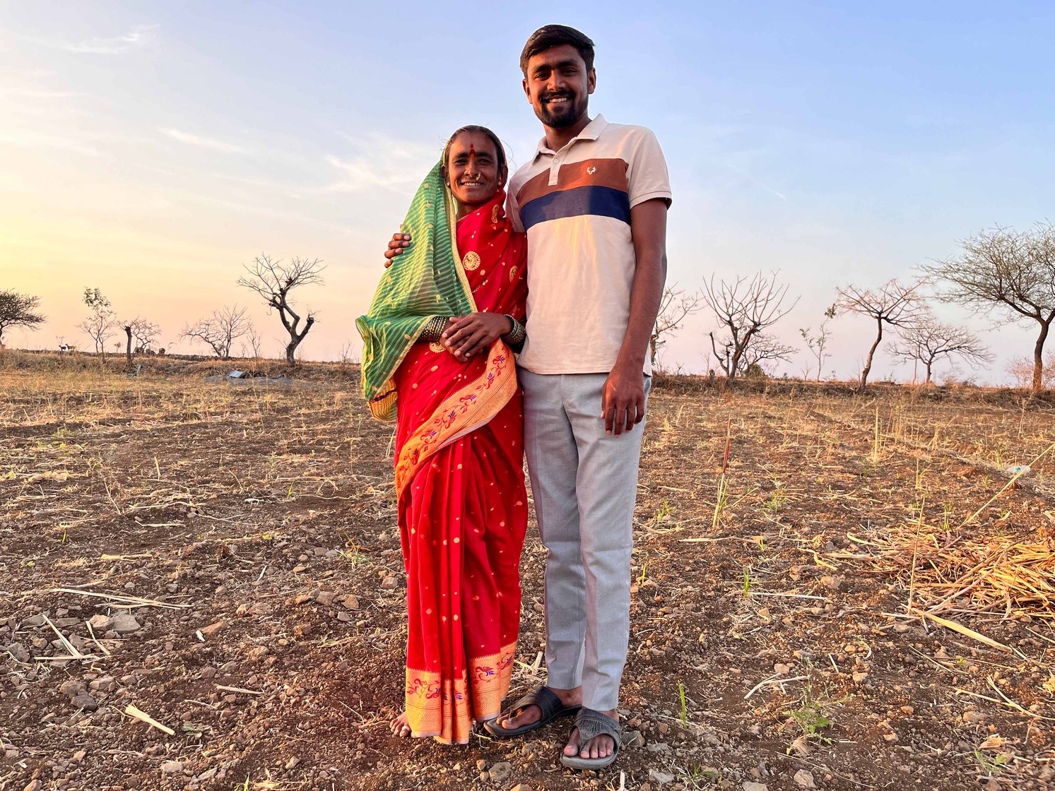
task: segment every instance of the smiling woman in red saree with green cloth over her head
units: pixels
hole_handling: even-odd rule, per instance
[[[464,127],[422,182],[414,242],[357,322],[363,391],[396,419],[407,575],[406,709],[392,732],[466,744],[499,713],[520,622],[528,525],[523,413],[526,243],[504,214],[498,137]]]

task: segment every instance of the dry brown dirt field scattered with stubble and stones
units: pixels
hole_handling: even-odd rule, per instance
[[[353,371],[83,367],[0,365],[0,791],[1055,788],[1055,450],[1004,471],[1050,405],[657,388],[633,744],[595,775],[557,761],[567,721],[388,735],[391,430]],[[533,526],[515,692],[544,675],[543,562]]]

